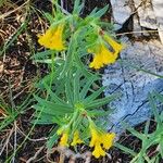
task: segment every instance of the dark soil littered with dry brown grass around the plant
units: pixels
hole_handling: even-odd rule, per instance
[[[16,110],[15,105],[20,105],[27,96],[35,89],[34,83],[37,77],[43,76],[48,73],[48,67],[43,64],[33,63],[30,57],[41,51],[42,48],[37,42],[37,34],[41,33],[47,26],[46,20],[42,15],[34,10],[38,9],[41,12],[50,12],[52,10],[49,0],[33,0],[30,1],[30,9],[22,7],[26,1],[23,0],[4,0],[4,3],[0,7],[0,13],[9,13],[21,7],[20,10],[15,10],[9,15],[5,15],[0,20],[0,96],[9,106],[9,109]],[[82,16],[87,15],[92,11],[92,9],[102,8],[109,4],[109,0],[86,0],[85,9]],[[73,9],[73,0],[67,0],[64,2],[64,8],[68,12]],[[13,40],[17,29],[23,24],[24,18],[27,21],[26,29],[22,30],[18,37]],[[110,13],[108,12],[103,18],[110,21]],[[4,45],[13,40],[12,45],[3,51]],[[34,116],[34,110],[28,108],[22,112],[16,120],[13,121],[11,125],[3,128],[0,133],[0,162],[5,162],[11,154],[13,154],[14,146],[18,147],[24,140],[25,136],[32,128],[32,120]],[[0,108],[1,109],[1,108]],[[3,109],[1,109],[3,110]],[[5,115],[5,111],[0,110],[0,117]],[[1,121],[2,118],[0,118]],[[143,124],[138,126],[139,129],[143,128]],[[16,129],[15,129],[16,128]],[[48,162],[46,158],[46,140],[51,131],[51,125],[37,125],[35,129],[30,133],[29,139],[21,147],[14,156],[14,162],[23,163],[29,160],[40,150],[36,156],[35,162],[43,163]],[[16,131],[15,131],[16,130]],[[15,142],[16,137],[16,142]],[[128,133],[122,135],[120,142],[123,145],[130,145],[130,148],[139,149],[140,141],[130,136]],[[15,145],[16,143],[16,145]],[[2,149],[5,146],[4,150]],[[88,147],[80,147],[87,149]],[[128,163],[130,156],[123,153],[122,151],[112,148],[110,150],[111,156],[101,158],[100,160],[91,159],[92,163]],[[54,154],[54,160],[59,161],[59,153]],[[67,162],[66,160],[65,162]],[[32,161],[34,162],[34,161]],[[76,162],[82,163],[83,160],[77,160]]]

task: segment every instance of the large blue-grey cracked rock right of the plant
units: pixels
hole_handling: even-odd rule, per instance
[[[121,53],[122,63],[108,66],[102,78],[103,86],[106,86],[105,96],[120,95],[110,104],[113,113],[108,117],[108,129],[118,134],[125,129],[122,121],[135,126],[151,116],[149,92],[163,92],[163,78],[133,67],[163,75],[163,46],[158,40],[125,41],[127,48]]]

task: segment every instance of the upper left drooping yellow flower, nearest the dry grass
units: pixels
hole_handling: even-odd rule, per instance
[[[64,25],[61,24],[54,28],[50,27],[42,36],[38,35],[38,42],[51,50],[64,50],[64,41],[62,38]]]

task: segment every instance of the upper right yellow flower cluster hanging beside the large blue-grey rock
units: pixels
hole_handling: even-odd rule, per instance
[[[104,35],[104,40],[112,47],[113,52],[109,50],[104,42],[100,42],[98,48],[89,49],[88,52],[95,54],[93,61],[90,63],[89,67],[98,70],[116,61],[120,51],[123,49],[123,46],[117,43],[108,35]]]

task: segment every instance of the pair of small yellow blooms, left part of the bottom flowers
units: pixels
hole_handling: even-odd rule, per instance
[[[83,143],[83,140],[79,138],[78,130],[76,130],[74,133],[73,141],[72,141],[71,146],[76,146],[79,143]],[[68,147],[68,133],[67,131],[62,134],[62,137],[60,139],[60,146]]]

